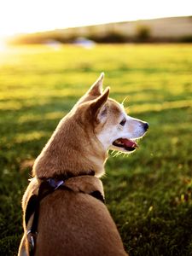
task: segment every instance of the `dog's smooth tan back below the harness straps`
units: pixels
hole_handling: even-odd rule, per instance
[[[102,201],[84,193],[58,190],[41,202],[35,255],[127,254]]]

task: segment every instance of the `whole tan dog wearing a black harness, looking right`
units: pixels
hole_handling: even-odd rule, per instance
[[[100,177],[108,149],[135,151],[148,123],[108,97],[103,77],[61,119],[34,162],[22,199],[20,256],[128,255],[103,203]]]

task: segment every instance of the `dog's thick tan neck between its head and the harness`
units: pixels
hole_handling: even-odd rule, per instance
[[[74,120],[62,119],[49,142],[39,154],[33,166],[36,177],[54,177],[71,173],[79,176],[82,172],[96,177],[104,173],[108,154],[94,134],[86,131]],[[75,127],[75,129],[73,129]],[[70,135],[70,136],[69,136]]]

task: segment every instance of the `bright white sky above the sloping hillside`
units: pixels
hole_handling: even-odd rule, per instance
[[[186,15],[192,15],[191,0],[3,0],[0,1],[0,37]]]

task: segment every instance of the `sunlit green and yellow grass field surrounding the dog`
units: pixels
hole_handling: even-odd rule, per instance
[[[191,45],[15,48],[0,53],[0,254],[15,255],[30,164],[104,71],[111,96],[148,121],[129,157],[109,157],[109,211],[130,255],[192,252]]]

